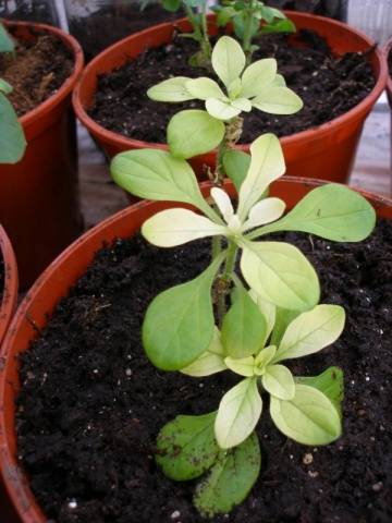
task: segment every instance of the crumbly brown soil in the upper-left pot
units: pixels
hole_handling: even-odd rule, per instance
[[[17,41],[16,58],[0,54],[0,77],[13,87],[9,99],[19,117],[52,96],[73,68],[71,51],[51,35],[40,35],[32,44]]]

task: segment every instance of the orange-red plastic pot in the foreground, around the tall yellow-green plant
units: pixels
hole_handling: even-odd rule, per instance
[[[271,194],[280,196],[291,208],[305,194],[322,182],[310,179],[284,179],[272,184]],[[232,185],[226,184],[233,192]],[[201,185],[207,194],[210,184]],[[363,193],[376,207],[379,217],[392,219],[392,200]],[[36,281],[27,293],[9,329],[3,343],[0,367],[0,470],[12,503],[23,523],[45,523],[47,520],[28,486],[28,478],[17,464],[15,436],[15,397],[20,389],[17,354],[28,349],[45,328],[48,315],[59,300],[69,292],[91,263],[95,253],[103,243],[115,238],[126,238],[139,229],[152,214],[177,204],[140,202],[102,221],[68,247]]]

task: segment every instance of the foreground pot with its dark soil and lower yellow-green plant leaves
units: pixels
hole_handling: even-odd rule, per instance
[[[232,68],[228,65],[225,73],[230,71]],[[376,343],[380,342],[381,333],[369,335],[370,330],[364,326],[363,337],[375,337],[370,342],[375,358],[365,369],[364,354],[369,354],[367,346],[357,344],[357,318],[350,316],[347,330],[354,338],[348,344],[334,343],[324,351],[326,360],[308,356],[310,363],[305,366],[289,364],[291,372],[296,369],[302,376],[299,380],[293,381],[291,372],[280,368],[280,362],[333,343],[344,324],[343,303],[357,314],[362,307],[360,321],[372,315],[367,301],[369,288],[362,282],[366,290],[358,290],[356,275],[363,278],[364,267],[357,266],[358,254],[366,251],[371,258],[369,264],[378,259],[377,242],[373,238],[371,243],[359,244],[357,251],[355,242],[372,230],[375,211],[358,193],[343,185],[282,180],[284,160],[273,135],[257,138],[250,153],[250,166],[240,184],[236,181],[236,193],[228,181],[221,186],[207,183],[200,190],[189,165],[168,151],[145,149],[121,154],[112,163],[114,179],[137,196],[156,202],[138,203],[87,232],[47,269],[21,305],[3,350],[0,460],[2,471],[7,471],[7,488],[24,522],[44,522],[47,518],[99,521],[102,514],[112,521],[124,518],[200,521],[199,513],[219,521],[221,513],[229,513],[235,506],[240,508],[229,515],[232,521],[244,518],[259,521],[266,511],[270,521],[282,521],[289,514],[308,516],[320,507],[320,498],[305,498],[305,484],[306,492],[315,482],[319,488],[317,477],[321,475],[327,488],[335,485],[336,474],[340,479],[357,477],[356,471],[368,462],[368,455],[362,451],[368,443],[368,431],[364,440],[358,428],[365,425],[366,430],[381,430],[379,417],[377,427],[371,419],[378,412],[365,412],[357,418],[352,401],[357,398],[363,402],[364,384],[360,380],[355,388],[351,378],[372,373],[365,380],[367,384],[375,375],[382,376],[376,357],[381,354]],[[235,194],[234,210],[230,196]],[[283,194],[291,210],[281,217]],[[388,200],[370,195],[367,198],[375,203],[379,216],[391,217]],[[151,248],[137,238],[127,241],[126,236],[140,227],[148,241],[168,248]],[[320,255],[315,259],[319,268],[324,268],[323,277],[329,279],[328,272],[339,275],[338,283],[327,293],[324,290],[324,297],[332,303],[318,305],[320,288],[315,269],[297,247],[286,243],[297,242],[296,236],[256,241],[267,233],[295,230],[311,234],[310,239],[304,236],[302,246],[308,245],[308,254]],[[212,252],[208,241],[192,246],[196,239],[209,235],[215,238]],[[377,235],[378,247],[382,250],[382,236]],[[113,239],[118,240],[112,243]],[[334,244],[328,240],[344,243],[334,252]],[[171,254],[171,247],[187,242],[189,248],[175,248]],[[107,246],[91,264],[102,243]],[[238,248],[240,269],[234,270]],[[382,263],[388,270],[388,253]],[[342,272],[343,266],[347,273]],[[347,285],[344,297],[342,281]],[[382,282],[376,278],[371,281],[375,299]],[[69,293],[70,285],[74,287]],[[163,291],[157,296],[156,285],[158,292]],[[69,296],[59,302],[66,293]],[[382,295],[379,301],[377,317],[383,326],[387,315],[382,313]],[[134,311],[130,309],[130,303]],[[48,314],[52,315],[51,321]],[[140,354],[140,333],[148,358],[164,372],[155,369]],[[29,342],[33,345],[26,352]],[[384,349],[381,351],[388,358]],[[344,423],[346,434],[342,439],[333,447],[324,447],[341,434],[342,373],[334,366],[336,363],[344,366],[350,378],[344,404],[344,416],[350,417],[350,423]],[[332,368],[309,378],[311,370],[319,374],[327,365]],[[180,373],[174,375],[174,369]],[[219,369],[225,372],[211,378],[188,376],[206,376]],[[234,372],[231,374],[229,369]],[[235,373],[244,375],[245,380],[238,381]],[[229,401],[238,392],[238,382],[240,396],[244,398],[246,388],[248,402]],[[272,397],[271,417],[285,436],[272,428],[268,416],[258,424],[260,382]],[[234,392],[228,392],[233,386]],[[367,387],[372,392],[378,390],[378,384],[370,382]],[[383,405],[384,414],[388,393],[385,390],[376,399]],[[306,394],[311,398],[306,399]],[[371,396],[365,396],[369,410],[375,403]],[[295,409],[290,412],[291,405],[297,405],[299,416],[294,414]],[[217,409],[218,414],[213,412]],[[170,423],[180,411],[185,416]],[[192,417],[200,414],[201,417]],[[162,418],[169,425],[159,434],[164,425]],[[253,434],[256,425],[262,452],[267,451],[268,459],[262,458],[261,470],[268,477],[261,476],[265,479],[255,487],[257,495],[248,496],[260,465],[259,443]],[[382,430],[389,429],[383,426]],[[286,436],[311,447],[291,442]],[[388,437],[379,443],[390,451]],[[342,460],[336,458],[339,452],[343,452]],[[16,453],[29,478],[20,469]],[[331,455],[335,457],[333,464]],[[382,470],[367,471],[367,482],[375,475],[388,474],[388,464],[382,465],[384,454],[375,453],[375,459]],[[166,478],[155,461],[166,475],[182,482]],[[317,469],[311,465],[314,462],[318,463]],[[286,470],[291,474],[297,471],[299,485],[285,477]],[[203,474],[194,498],[196,508],[192,508],[195,485],[186,481]],[[328,490],[328,510],[323,508],[321,521],[328,521],[338,511],[343,511],[342,518],[347,510],[354,511],[351,514],[363,514],[364,503],[371,514],[387,516],[382,479],[371,485],[370,494],[367,482],[358,485],[357,491],[365,499],[359,497],[348,509],[350,491],[334,495],[333,489]],[[143,490],[145,482],[152,490]],[[290,484],[296,494],[295,504],[290,495],[281,497],[282,488],[287,492]],[[370,508],[369,499],[373,501]]]

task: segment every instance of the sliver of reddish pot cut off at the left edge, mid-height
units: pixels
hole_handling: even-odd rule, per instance
[[[5,337],[7,328],[10,325],[13,313],[17,303],[17,264],[15,253],[12,248],[11,241],[0,223],[0,255],[3,258],[4,266],[4,285],[0,302],[0,320],[2,327],[0,328],[0,348]]]

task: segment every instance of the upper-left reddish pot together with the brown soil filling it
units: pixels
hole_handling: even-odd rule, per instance
[[[81,47],[56,27],[7,22],[15,56],[0,57],[0,77],[23,126],[22,160],[0,167],[0,222],[28,287],[81,231],[77,154],[71,93],[83,68]]]

